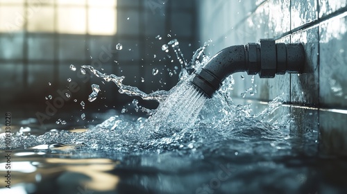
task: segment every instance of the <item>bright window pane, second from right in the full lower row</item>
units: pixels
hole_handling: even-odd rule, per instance
[[[85,34],[86,13],[83,7],[58,7],[58,33]]]

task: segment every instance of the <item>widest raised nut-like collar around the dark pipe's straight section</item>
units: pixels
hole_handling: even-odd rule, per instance
[[[260,39],[260,78],[274,78],[276,74],[276,44],[274,39]]]

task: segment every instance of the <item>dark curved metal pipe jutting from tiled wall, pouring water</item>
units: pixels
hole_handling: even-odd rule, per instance
[[[259,44],[224,48],[196,73],[192,83],[211,98],[232,73],[246,71],[248,75],[259,73],[260,78],[274,78],[275,74],[301,73],[304,63],[302,44],[276,44],[273,39],[260,39]]]

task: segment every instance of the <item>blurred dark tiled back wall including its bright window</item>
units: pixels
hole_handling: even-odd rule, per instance
[[[146,93],[169,90],[178,82],[178,74],[169,76],[169,71],[180,64],[162,45],[178,39],[190,60],[199,46],[196,25],[195,1],[0,0],[1,109],[19,109],[24,117],[45,112],[45,98],[51,95],[53,101],[57,90],[69,87],[69,78],[79,90],[59,112],[80,110],[81,101],[91,112],[122,109],[132,102],[134,98],[119,94],[112,82],[78,76],[83,64],[125,76],[125,85]],[[71,64],[76,71],[69,69]],[[153,69],[158,69],[155,76]],[[92,84],[101,91],[90,103]],[[152,109],[158,105],[139,104]]]

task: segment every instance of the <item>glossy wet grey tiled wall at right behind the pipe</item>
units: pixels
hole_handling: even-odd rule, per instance
[[[305,46],[305,73],[273,79],[236,73],[233,98],[261,107],[264,101],[285,96],[278,114],[291,113],[293,134],[316,134],[320,153],[347,154],[347,1],[269,0],[199,1],[200,39],[212,39],[214,55],[235,44],[273,38]],[[246,79],[242,80],[241,76]],[[241,93],[257,85],[253,96]],[[255,112],[257,109],[255,109]],[[258,110],[259,111],[259,110]]]

